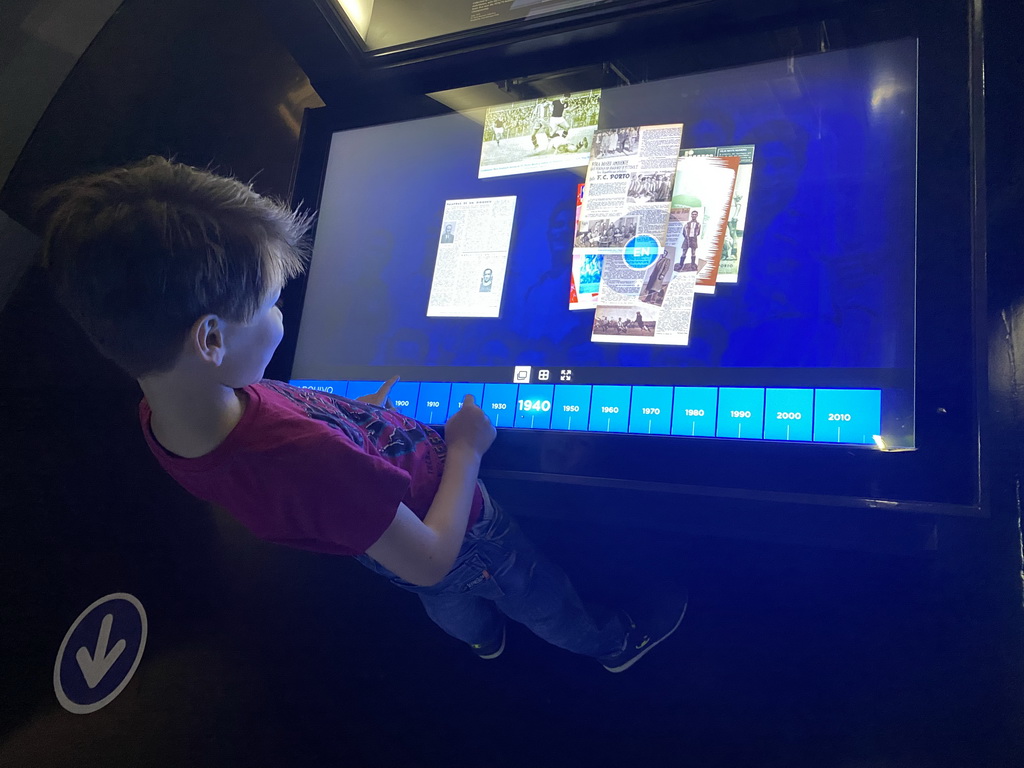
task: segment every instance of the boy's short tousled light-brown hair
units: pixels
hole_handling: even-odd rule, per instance
[[[204,314],[252,319],[308,256],[308,215],[161,157],[59,184],[41,206],[58,299],[135,378],[170,369]]]

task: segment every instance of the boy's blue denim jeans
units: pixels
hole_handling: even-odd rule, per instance
[[[431,587],[410,584],[367,555],[356,559],[392,584],[420,596],[427,615],[465,643],[501,637],[505,617],[552,645],[601,658],[626,644],[622,615],[584,606],[568,577],[548,560],[487,495],[483,514],[466,531],[452,570]]]

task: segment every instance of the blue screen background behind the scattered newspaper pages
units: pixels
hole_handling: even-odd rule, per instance
[[[910,368],[916,43],[605,90],[600,127],[756,145],[738,283],[688,346],[597,344],[570,311],[585,168],[478,179],[482,111],[335,134],[293,376],[346,365]],[[517,197],[498,318],[427,317],[444,201]]]

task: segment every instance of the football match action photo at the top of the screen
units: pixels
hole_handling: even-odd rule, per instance
[[[587,165],[600,111],[600,88],[488,108],[477,178]]]

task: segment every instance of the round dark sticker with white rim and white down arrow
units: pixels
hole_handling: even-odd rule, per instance
[[[106,595],[83,610],[53,665],[53,692],[60,706],[87,715],[117,698],[138,669],[145,634],[145,609],[133,595]]]

